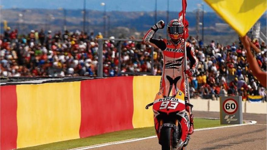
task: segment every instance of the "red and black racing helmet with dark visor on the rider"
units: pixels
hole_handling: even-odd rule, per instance
[[[167,33],[171,39],[177,40],[184,34],[184,25],[178,19],[171,20],[167,25]]]

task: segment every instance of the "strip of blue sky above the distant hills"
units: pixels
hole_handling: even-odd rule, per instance
[[[181,10],[181,0],[169,0],[170,11]],[[101,2],[106,3],[107,11],[154,11],[155,0],[86,0],[86,9],[103,10]],[[191,12],[197,8],[197,4],[204,3],[207,12],[213,10],[203,0],[188,0],[187,11]],[[57,9],[82,9],[83,0],[1,0],[4,9],[7,8],[45,8]],[[167,10],[167,0],[157,0],[157,10]]]

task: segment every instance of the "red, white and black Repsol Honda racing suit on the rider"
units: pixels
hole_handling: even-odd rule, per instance
[[[163,72],[161,75],[161,87],[163,95],[170,96],[172,88],[175,91],[180,89],[185,92],[185,73],[184,73],[184,39],[177,42],[167,39],[153,39],[157,27],[153,26],[147,31],[143,38],[145,44],[157,46],[163,51]],[[194,47],[186,42],[187,58],[190,61],[190,72],[194,74],[198,68],[198,59],[194,52]],[[174,91],[173,90],[173,91]]]

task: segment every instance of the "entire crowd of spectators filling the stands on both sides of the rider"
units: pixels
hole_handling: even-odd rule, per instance
[[[17,30],[6,28],[1,35],[1,76],[96,76],[98,38],[101,33],[65,31],[52,33],[32,30],[19,35]],[[110,37],[114,38],[114,37]],[[134,37],[131,37],[134,38]],[[266,96],[257,79],[248,68],[245,49],[241,42],[222,45],[211,41],[209,45],[190,37],[199,59],[198,71],[189,78],[191,96],[217,98],[224,95]],[[266,71],[266,44],[253,43],[260,49],[255,52],[259,66]],[[103,45],[103,75],[118,76],[120,72],[153,72],[161,75],[162,52],[154,49],[151,66],[150,45],[141,42],[122,42],[119,72],[118,42],[105,41]]]

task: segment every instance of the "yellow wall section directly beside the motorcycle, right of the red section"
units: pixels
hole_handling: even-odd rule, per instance
[[[146,105],[154,102],[160,89],[161,76],[135,76],[133,81],[134,95],[134,128],[154,126],[152,106],[145,109]]]

